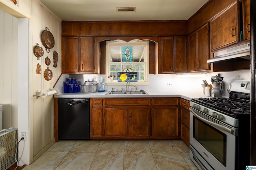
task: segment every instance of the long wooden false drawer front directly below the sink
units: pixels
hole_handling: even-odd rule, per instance
[[[105,106],[150,106],[150,99],[141,98],[111,98],[105,99]]]

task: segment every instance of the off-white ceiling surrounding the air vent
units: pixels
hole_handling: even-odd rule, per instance
[[[188,20],[208,0],[40,0],[61,20]],[[136,12],[116,12],[136,7]]]

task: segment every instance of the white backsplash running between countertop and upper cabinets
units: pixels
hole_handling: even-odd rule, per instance
[[[250,80],[250,70],[236,70],[232,72],[210,72],[207,73],[206,76],[200,77],[178,77],[176,74],[150,74],[149,80],[150,83],[148,86],[137,86],[138,90],[145,90],[145,91],[194,91],[203,93],[203,88],[201,84],[203,84],[202,80],[206,80],[208,84],[212,82],[211,77],[220,74],[220,76],[224,77],[223,79],[223,89],[224,89],[224,96],[229,96],[227,89],[231,80]],[[186,75],[186,74],[185,74]],[[66,78],[76,77],[77,81],[81,81],[84,84],[84,81],[88,79],[92,80],[96,78],[96,81],[99,82],[101,77],[106,77],[106,75],[101,74],[62,74],[59,81],[56,84],[56,88],[60,90],[60,93],[64,92],[63,89],[63,82]],[[171,86],[167,86],[167,84],[171,84]],[[125,88],[125,86],[116,86],[116,85],[106,85],[105,90],[110,91],[111,88]],[[130,86],[131,88],[132,86]]]

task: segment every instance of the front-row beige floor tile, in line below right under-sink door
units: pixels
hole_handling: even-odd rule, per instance
[[[152,153],[124,153],[124,170],[156,170]]]

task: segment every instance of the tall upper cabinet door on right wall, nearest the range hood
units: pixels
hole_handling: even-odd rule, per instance
[[[204,25],[198,29],[197,33],[197,43],[198,43],[198,68],[197,70],[208,70],[209,64],[207,60],[210,57],[210,47],[209,47],[209,26]]]

